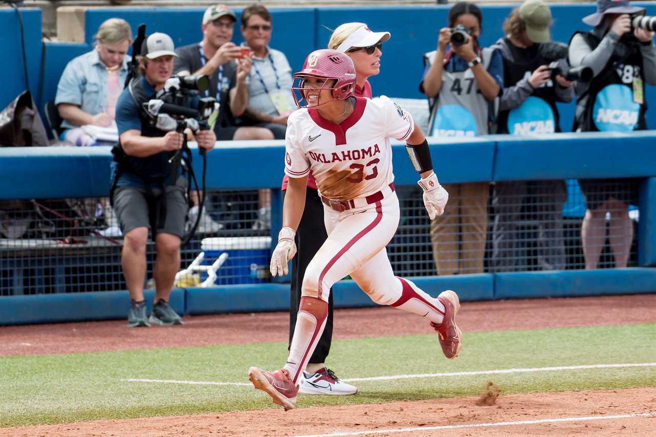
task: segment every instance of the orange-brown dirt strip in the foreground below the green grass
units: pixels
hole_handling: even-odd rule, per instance
[[[476,406],[478,398],[451,398],[375,405],[313,407],[283,411],[260,409],[195,416],[107,420],[66,425],[0,428],[0,436],[304,436],[374,431],[361,436],[653,436],[656,417],[606,419],[604,416],[656,410],[655,390],[631,388],[594,392],[513,394],[495,406]],[[539,421],[567,417],[599,419],[468,428],[426,428]],[[403,428],[424,428],[411,432]],[[381,432],[396,430],[396,432]],[[3,434],[6,432],[6,434]]]

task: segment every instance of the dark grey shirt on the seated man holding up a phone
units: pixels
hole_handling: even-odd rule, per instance
[[[177,74],[184,70],[193,74],[203,68],[207,63],[207,58],[201,58],[199,43],[185,45],[175,49],[178,54],[173,66],[173,73]],[[219,118],[216,120],[216,127],[236,126],[235,117],[230,111],[230,90],[237,84],[237,64],[230,61],[216,69],[209,78],[209,89],[201,93],[203,97],[214,97],[221,105],[219,109]],[[220,91],[218,93],[217,91]]]

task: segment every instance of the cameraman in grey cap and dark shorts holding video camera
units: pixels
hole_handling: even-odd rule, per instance
[[[177,132],[160,131],[142,104],[155,98],[173,73],[173,40],[153,33],[141,47],[140,72],[123,90],[116,108],[119,150],[112,161],[112,200],[125,236],[121,265],[130,292],[128,326],[179,325],[180,316],[169,306],[175,274],[180,269],[180,239],[187,214],[186,180],[179,161],[169,159],[182,148]],[[197,131],[198,146],[213,148],[211,130]],[[122,154],[120,152],[123,152]],[[155,240],[155,301],[146,318],[144,278],[148,228]]]

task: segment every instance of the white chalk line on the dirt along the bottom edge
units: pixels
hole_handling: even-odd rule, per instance
[[[331,432],[330,434],[306,434],[293,437],[340,437],[340,436],[361,436],[363,434],[392,434],[396,432],[426,432],[440,429],[457,429],[457,428],[483,428],[483,427],[508,427],[517,425],[535,425],[537,423],[559,423],[559,422],[580,422],[580,421],[598,421],[604,419],[630,419],[632,417],[656,417],[656,412],[619,415],[600,415],[586,417],[558,417],[556,419],[537,419],[534,421],[513,421],[513,422],[489,422],[489,423],[471,423],[468,425],[441,425],[440,427],[416,427],[416,428],[390,428],[379,430],[352,431],[352,432]]]

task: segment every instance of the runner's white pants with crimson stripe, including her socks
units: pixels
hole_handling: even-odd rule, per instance
[[[364,207],[338,212],[324,205],[323,210],[328,239],[306,269],[285,365],[295,383],[325,327],[330,289],[348,275],[374,302],[419,314],[438,324],[444,314],[444,306],[438,299],[424,293],[412,281],[394,276],[385,247],[399,224],[395,192]]]

